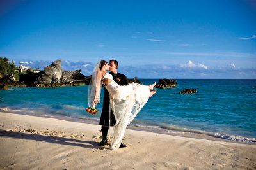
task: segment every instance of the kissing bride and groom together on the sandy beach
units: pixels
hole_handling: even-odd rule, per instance
[[[109,63],[101,60],[93,69],[92,78],[88,88],[89,106],[97,106],[100,103],[100,90],[104,86],[104,101],[100,117],[102,125],[102,141],[100,146],[108,143],[107,135],[109,126],[113,126],[114,138],[109,148],[105,150],[116,150],[124,148],[122,143],[127,125],[136,117],[138,112],[152,97],[156,90],[152,85],[140,85],[138,83],[128,83],[127,76],[118,73],[118,62],[110,60]],[[107,71],[110,71],[107,73]]]

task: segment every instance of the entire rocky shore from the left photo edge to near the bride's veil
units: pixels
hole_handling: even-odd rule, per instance
[[[8,89],[8,87],[60,87],[89,84],[91,76],[81,74],[81,69],[65,71],[61,67],[61,62],[62,60],[52,62],[51,65],[44,68],[44,71],[28,69],[26,73],[15,73],[17,81],[13,74],[3,76],[0,73],[0,89]]]

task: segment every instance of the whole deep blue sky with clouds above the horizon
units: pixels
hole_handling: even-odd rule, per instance
[[[256,78],[256,1],[0,1],[0,56],[90,75]]]

